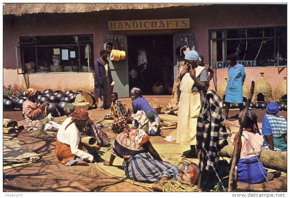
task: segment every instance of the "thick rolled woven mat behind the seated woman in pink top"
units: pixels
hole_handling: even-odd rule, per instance
[[[228,139],[228,145],[221,150],[221,156],[232,157],[234,153],[234,145]],[[267,149],[262,149],[260,160],[265,168],[281,170],[287,173],[287,151],[276,152]]]

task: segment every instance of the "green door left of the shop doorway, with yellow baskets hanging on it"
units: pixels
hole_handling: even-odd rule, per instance
[[[129,97],[129,76],[128,76],[128,51],[127,51],[127,37],[126,36],[104,36],[104,43],[114,43],[115,38],[124,45],[124,51],[126,52],[126,58],[124,60],[110,60],[110,54],[108,54],[109,66],[112,72],[113,81],[115,81],[114,91],[118,93],[119,98]]]

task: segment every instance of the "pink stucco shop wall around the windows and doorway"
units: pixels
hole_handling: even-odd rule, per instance
[[[271,13],[271,14],[269,14]],[[163,29],[163,30],[128,30],[109,31],[108,21],[114,20],[144,20],[190,18],[190,29]],[[144,10],[110,10],[92,13],[53,13],[53,14],[24,14],[20,17],[13,15],[3,16],[3,84],[18,84],[25,88],[23,75],[17,75],[15,46],[19,46],[20,36],[41,35],[70,35],[93,34],[94,59],[99,57],[103,49],[103,36],[127,34],[154,34],[154,33],[195,33],[195,49],[204,55],[205,63],[209,59],[209,29],[267,27],[287,25],[287,5],[204,5],[194,7],[176,7]],[[282,81],[287,74],[287,68],[262,68],[265,78],[269,80],[272,89]],[[259,77],[260,68],[246,68],[246,84]],[[224,69],[215,70],[217,88],[223,83],[227,72]],[[273,75],[275,74],[275,75]],[[90,91],[93,79],[92,74],[35,74],[30,76],[30,86],[46,89],[65,89],[64,87],[78,87],[77,90]],[[257,77],[258,76],[258,77]],[[72,80],[73,77],[73,80]],[[79,79],[75,81],[74,79]],[[211,82],[211,86],[214,83]],[[43,88],[43,89],[41,89]],[[72,89],[72,88],[70,88]]]

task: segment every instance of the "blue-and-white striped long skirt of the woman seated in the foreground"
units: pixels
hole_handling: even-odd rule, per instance
[[[123,167],[127,178],[139,182],[153,183],[162,177],[180,181],[180,169],[177,166],[155,160],[148,153],[124,159]]]

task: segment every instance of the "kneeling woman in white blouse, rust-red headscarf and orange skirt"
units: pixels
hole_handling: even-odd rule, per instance
[[[88,121],[88,111],[77,109],[60,126],[56,136],[55,154],[62,164],[88,166],[87,162],[93,162],[98,155],[95,149],[85,147],[80,142],[80,131]]]

